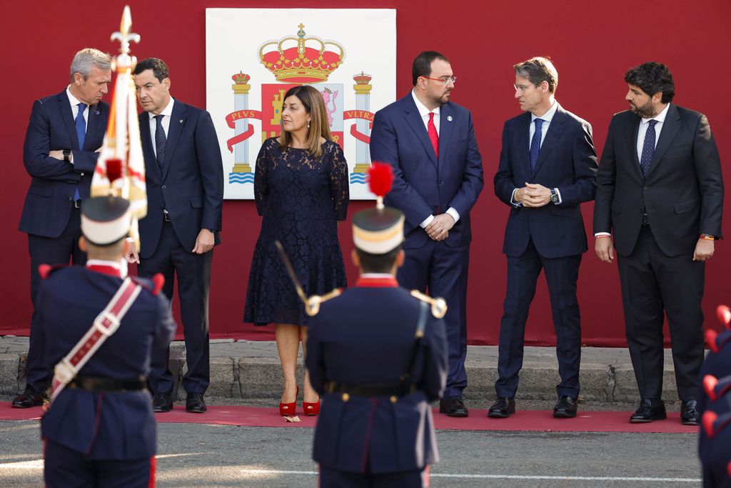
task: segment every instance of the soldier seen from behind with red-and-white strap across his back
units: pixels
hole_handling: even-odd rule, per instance
[[[60,393],[54,391],[41,421],[49,488],[154,486],[156,424],[145,377],[151,349],[168,347],[175,323],[169,302],[158,293],[161,280],[135,278],[123,285],[129,225],[126,200],[84,200],[79,247],[88,253],[86,267],[41,269],[37,310],[45,366],[56,367],[53,388],[64,383],[64,374],[72,378]],[[118,329],[77,372],[69,369],[77,357],[67,355],[125,285],[139,294],[129,300]]]

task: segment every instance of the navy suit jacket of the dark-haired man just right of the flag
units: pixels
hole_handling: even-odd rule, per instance
[[[147,180],[147,217],[140,220],[140,258],[151,257],[157,249],[162,209],[170,213],[175,234],[189,252],[201,229],[216,230],[219,244],[224,176],[211,114],[175,100],[162,173],[155,158],[147,112],[140,113],[140,136]]]

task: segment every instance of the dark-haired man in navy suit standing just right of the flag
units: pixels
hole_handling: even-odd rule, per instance
[[[221,239],[223,165],[211,115],[170,96],[167,64],[148,58],[135,67],[135,87],[143,113],[140,135],[145,155],[148,212],[140,220],[140,275],[162,273],[172,299],[173,277],[185,334],[186,411],[206,410],[210,382],[208,290],[213,246]],[[130,262],[137,256],[128,256]],[[150,386],[156,412],[173,408],[170,350],[154,355]]]

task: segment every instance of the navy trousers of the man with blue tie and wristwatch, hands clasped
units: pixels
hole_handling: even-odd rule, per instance
[[[545,271],[548,294],[556,331],[556,358],[561,383],[556,386],[559,397],[579,395],[581,362],[581,317],[576,299],[576,281],[581,255],[545,258],[539,255],[531,239],[520,256],[507,256],[507,290],[500,320],[498,347],[498,397],[515,397],[518,373],[523,367],[523,342],[526,320],[536,293],[541,269]]]

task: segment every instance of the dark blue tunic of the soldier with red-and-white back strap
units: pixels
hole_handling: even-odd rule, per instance
[[[146,376],[152,348],[167,348],[175,334],[170,302],[147,288],[129,308],[119,329],[81,368],[80,376],[130,380]],[[53,367],[94,323],[122,279],[81,266],[52,271],[38,293],[44,365]],[[87,454],[89,459],[141,459],[156,452],[156,425],[148,391],[65,388],[41,421],[43,438]]]

